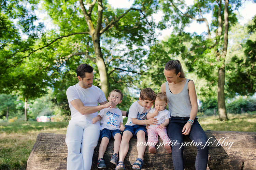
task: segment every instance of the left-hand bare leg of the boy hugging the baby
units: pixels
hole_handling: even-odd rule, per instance
[[[132,133],[130,131],[124,131],[123,137],[120,143],[119,149],[119,161],[124,162],[125,156],[129,150],[129,141],[132,138]],[[122,165],[117,165],[116,168],[123,167]]]

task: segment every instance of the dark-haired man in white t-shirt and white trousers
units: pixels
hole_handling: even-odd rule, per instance
[[[112,108],[115,104],[107,102],[103,91],[93,85],[93,67],[81,64],[76,74],[79,83],[70,86],[66,92],[71,110],[66,134],[67,170],[90,170],[100,135],[100,123],[92,124],[92,119],[101,109]]]

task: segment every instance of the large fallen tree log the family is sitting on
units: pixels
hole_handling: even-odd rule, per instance
[[[210,170],[256,170],[256,133],[230,132],[230,131],[205,131],[209,142],[208,167]],[[27,170],[66,170],[67,146],[66,135],[40,133],[28,158]],[[159,143],[162,140],[159,138]],[[195,169],[196,147],[195,143],[185,136],[184,162],[186,170]],[[144,170],[173,170],[172,155],[168,154],[163,146],[156,148],[157,153],[144,154]],[[99,144],[94,150],[92,170],[97,168]],[[114,140],[110,143],[104,154],[106,170],[114,169],[110,163],[113,154]],[[127,170],[137,158],[137,139],[131,138],[129,151],[124,160]]]

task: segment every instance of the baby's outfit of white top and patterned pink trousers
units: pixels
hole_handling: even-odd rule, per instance
[[[149,113],[154,113],[156,110],[156,108],[152,108],[150,110]],[[163,122],[165,122],[166,119],[171,118],[170,116],[170,112],[166,109],[160,111],[158,113],[157,116],[155,116],[154,118],[158,119],[158,123],[156,125],[150,125],[148,126],[148,130],[147,130],[147,143],[149,146],[155,146],[156,143],[158,142],[158,135],[160,136],[160,138],[163,141],[163,144],[165,144],[166,142],[169,143],[170,142],[170,138],[167,134],[166,128],[163,129],[159,129],[159,125],[162,124]]]

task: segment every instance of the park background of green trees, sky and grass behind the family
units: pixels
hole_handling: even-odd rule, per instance
[[[204,130],[256,132],[255,8],[241,0],[0,1],[0,169],[26,169],[39,133],[66,134],[66,90],[82,63],[106,96],[122,90],[118,107],[128,110],[142,88],[160,91],[165,63],[178,59],[195,82]]]

